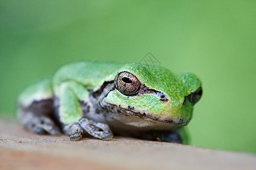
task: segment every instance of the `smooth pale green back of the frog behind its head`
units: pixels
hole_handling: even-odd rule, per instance
[[[53,88],[63,82],[76,81],[88,89],[97,90],[105,81],[113,80],[125,63],[80,60],[66,63],[53,75]]]

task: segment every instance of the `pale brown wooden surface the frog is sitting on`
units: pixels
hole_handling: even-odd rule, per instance
[[[0,169],[256,169],[256,156],[114,137],[71,142],[0,120]]]

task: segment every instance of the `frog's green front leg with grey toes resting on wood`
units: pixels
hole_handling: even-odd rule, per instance
[[[76,82],[65,82],[59,88],[59,99],[55,99],[56,110],[59,112],[60,122],[63,125],[65,134],[70,135],[71,141],[77,141],[82,137],[83,131],[103,140],[113,138],[113,133],[109,126],[99,122],[94,122],[82,117],[82,109],[79,101],[85,101],[89,92],[82,84]]]

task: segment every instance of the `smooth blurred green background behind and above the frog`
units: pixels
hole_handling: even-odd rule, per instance
[[[192,145],[256,152],[255,1],[0,2],[0,116],[30,82],[75,59],[191,71],[203,97]]]

